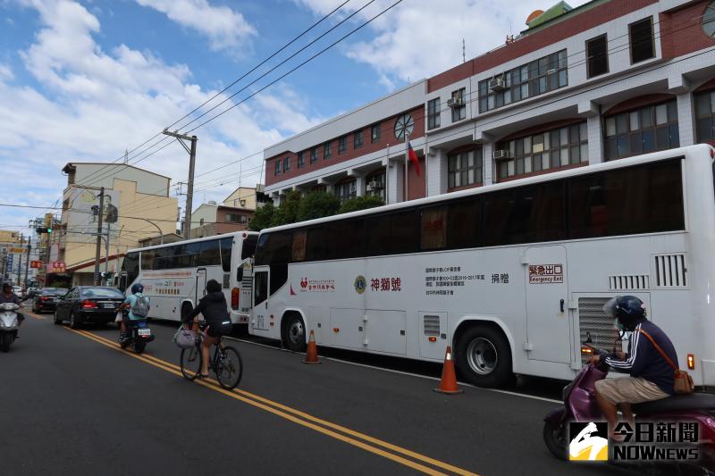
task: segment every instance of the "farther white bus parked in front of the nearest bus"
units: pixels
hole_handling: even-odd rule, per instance
[[[251,307],[251,258],[258,233],[238,231],[169,245],[130,249],[116,285],[129,292],[140,282],[151,297],[149,317],[180,321],[206,294],[206,281],[222,283],[231,322],[247,323]]]

